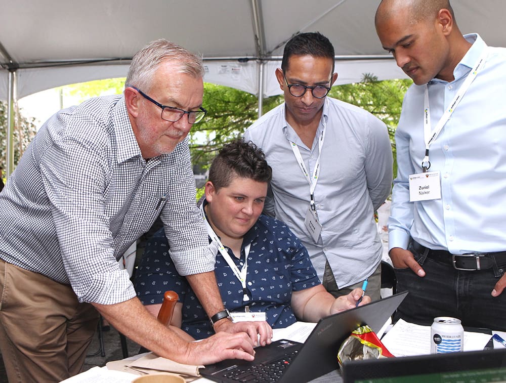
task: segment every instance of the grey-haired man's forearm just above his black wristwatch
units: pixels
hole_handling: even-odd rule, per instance
[[[225,309],[214,271],[187,275],[186,279],[209,317]]]

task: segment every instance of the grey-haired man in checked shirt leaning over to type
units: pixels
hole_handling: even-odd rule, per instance
[[[146,311],[117,262],[160,216],[207,314],[224,310],[186,139],[205,115],[203,73],[197,56],[154,41],[133,58],[123,95],[61,110],[26,150],[0,194],[0,349],[10,382],[78,373],[97,311],[178,362],[253,359],[257,324],[217,321],[217,331],[247,333],[188,343]]]

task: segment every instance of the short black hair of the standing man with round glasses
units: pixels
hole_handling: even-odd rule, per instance
[[[334,72],[334,46],[330,40],[320,32],[299,33],[288,40],[283,51],[281,69],[288,69],[288,59],[291,56],[327,57],[332,60],[332,73]]]

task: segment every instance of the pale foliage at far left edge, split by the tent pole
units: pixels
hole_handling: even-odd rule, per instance
[[[3,177],[6,174],[7,156],[7,102],[0,101],[0,168],[3,170]],[[22,115],[22,110],[15,113],[14,119],[14,163],[17,164],[23,155],[26,147],[37,133],[37,126],[34,118],[27,119]]]

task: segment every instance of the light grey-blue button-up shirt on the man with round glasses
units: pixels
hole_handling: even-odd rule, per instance
[[[323,228],[315,242],[304,225],[309,184],[290,141],[298,145],[309,174],[313,174],[324,124],[325,141],[314,193]],[[370,276],[381,261],[383,247],[374,209],[385,201],[392,185],[392,148],[385,124],[361,108],[327,97],[311,148],[287,124],[285,104],[251,125],[244,138],[265,152],[272,167],[275,216],[306,246],[320,279],[326,260],[340,288]]]

